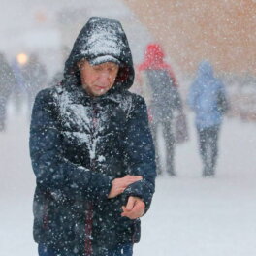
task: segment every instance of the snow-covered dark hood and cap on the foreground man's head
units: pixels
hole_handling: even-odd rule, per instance
[[[92,17],[83,26],[65,63],[64,78],[80,80],[77,63],[86,59],[91,65],[112,61],[119,65],[114,88],[128,89],[134,80],[131,50],[121,23],[114,19]]]

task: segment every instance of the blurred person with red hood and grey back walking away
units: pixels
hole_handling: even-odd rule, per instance
[[[166,168],[170,176],[176,176],[175,171],[175,129],[174,115],[183,114],[181,98],[178,92],[176,77],[171,66],[164,61],[164,51],[158,44],[149,44],[145,51],[144,62],[139,66],[139,76],[143,80],[145,98],[150,109],[151,129],[154,143],[157,146],[157,173],[163,173],[164,166],[160,161],[158,132],[162,128],[165,142]],[[144,74],[145,76],[143,76]],[[148,93],[150,91],[150,95]]]

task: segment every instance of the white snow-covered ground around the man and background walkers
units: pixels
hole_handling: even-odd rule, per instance
[[[8,130],[0,133],[0,255],[35,256],[28,120],[9,113]],[[224,121],[215,178],[201,176],[192,114],[189,128],[189,142],[176,149],[177,176],[157,178],[134,254],[255,256],[256,124]]]

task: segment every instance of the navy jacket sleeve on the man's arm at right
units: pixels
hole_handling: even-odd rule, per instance
[[[143,176],[143,180],[131,184],[125,194],[142,198],[147,211],[155,190],[155,151],[144,99],[139,96],[127,123],[125,152],[130,174]]]

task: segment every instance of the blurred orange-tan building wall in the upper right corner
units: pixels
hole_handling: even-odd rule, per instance
[[[217,71],[256,75],[255,0],[123,0],[182,73],[202,59]]]

